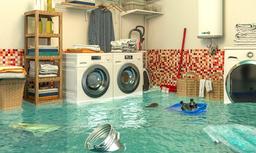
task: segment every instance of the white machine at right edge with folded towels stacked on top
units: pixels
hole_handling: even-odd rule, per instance
[[[256,47],[224,49],[224,103],[256,103]]]

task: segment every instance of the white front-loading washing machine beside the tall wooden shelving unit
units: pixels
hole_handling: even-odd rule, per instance
[[[63,53],[63,99],[72,103],[113,98],[112,53]]]

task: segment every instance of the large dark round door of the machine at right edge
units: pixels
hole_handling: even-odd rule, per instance
[[[225,88],[232,103],[256,103],[256,61],[241,61],[233,66]]]

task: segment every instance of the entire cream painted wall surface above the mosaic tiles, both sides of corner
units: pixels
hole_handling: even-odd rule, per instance
[[[60,1],[65,0],[56,0],[56,2]],[[96,0],[97,4],[100,2],[101,0]],[[111,3],[107,0],[104,2]],[[205,39],[197,38],[197,0],[159,0],[158,2],[162,4],[161,10],[164,15],[148,19],[148,49],[181,49],[184,28],[186,28],[184,49],[208,49]],[[24,12],[33,10],[33,5],[34,0],[6,0],[1,3],[1,49],[24,48]],[[256,0],[223,0],[223,37],[216,39],[215,42],[220,46],[219,49],[233,45],[236,23],[256,22],[255,6]],[[85,21],[83,9],[56,8],[56,11],[63,12],[63,48],[72,48],[73,44],[88,44],[90,13],[88,13],[88,21]],[[115,23],[115,11],[112,11],[112,14],[116,39],[128,38],[129,31],[137,25],[145,26],[143,16],[125,15],[123,32],[120,34],[119,12],[117,23]],[[210,18],[206,22],[211,24]],[[138,33],[132,33],[132,37],[138,37]]]

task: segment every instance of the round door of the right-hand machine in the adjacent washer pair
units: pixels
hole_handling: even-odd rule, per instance
[[[139,85],[139,69],[133,63],[124,64],[117,74],[117,85],[119,89],[126,93],[134,92]]]

